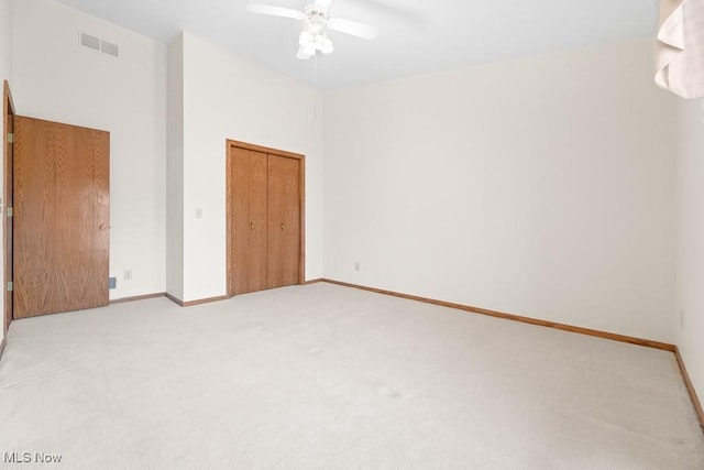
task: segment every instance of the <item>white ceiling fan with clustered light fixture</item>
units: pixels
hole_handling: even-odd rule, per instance
[[[302,10],[248,2],[246,10],[252,13],[270,14],[273,17],[292,18],[305,22],[304,31],[298,36],[298,54],[296,57],[305,61],[318,52],[330,54],[334,51],[332,41],[328,37],[328,30],[350,34],[364,40],[373,40],[378,34],[378,28],[358,21],[331,18],[329,15],[332,0],[312,0]]]

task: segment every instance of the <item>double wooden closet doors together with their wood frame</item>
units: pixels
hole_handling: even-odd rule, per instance
[[[302,283],[304,161],[228,140],[228,295]]]

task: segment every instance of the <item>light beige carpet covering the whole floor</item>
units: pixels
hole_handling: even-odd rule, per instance
[[[669,352],[315,284],[14,321],[0,452],[30,456],[8,468],[689,470],[704,435]]]

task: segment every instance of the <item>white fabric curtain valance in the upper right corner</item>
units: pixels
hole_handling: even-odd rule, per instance
[[[704,0],[660,0],[656,66],[659,87],[704,97]]]

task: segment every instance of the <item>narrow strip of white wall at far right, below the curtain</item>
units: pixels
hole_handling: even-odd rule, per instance
[[[704,100],[678,103],[676,342],[704,400]]]

